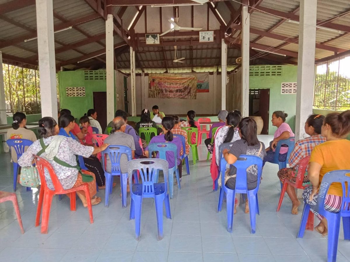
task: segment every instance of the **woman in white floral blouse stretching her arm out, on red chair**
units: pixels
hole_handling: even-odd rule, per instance
[[[77,142],[75,139],[71,139],[65,136],[57,136],[59,132],[58,125],[54,118],[43,117],[39,121],[39,133],[43,137],[36,140],[28,150],[23,153],[22,157],[18,159],[18,163],[22,167],[30,166],[34,156],[39,152],[40,157],[45,158],[51,164],[55,170],[57,178],[61,183],[63,189],[70,189],[77,187],[83,183],[89,185],[91,204],[96,205],[101,202],[100,197],[96,197],[96,178],[95,175],[89,171],[82,170],[82,173],[92,176],[93,181],[84,182],[82,175],[78,172],[76,155],[82,155],[83,157],[90,157],[92,154],[97,154],[106,149],[108,144],[104,144],[101,147],[84,146]],[[45,151],[42,149],[47,148]],[[61,160],[61,163],[56,162],[55,157]],[[64,164],[64,165],[63,165]],[[49,189],[54,190],[50,175],[45,170],[45,180]],[[82,200],[83,205],[87,207],[87,201],[84,191],[77,191],[78,197]]]

